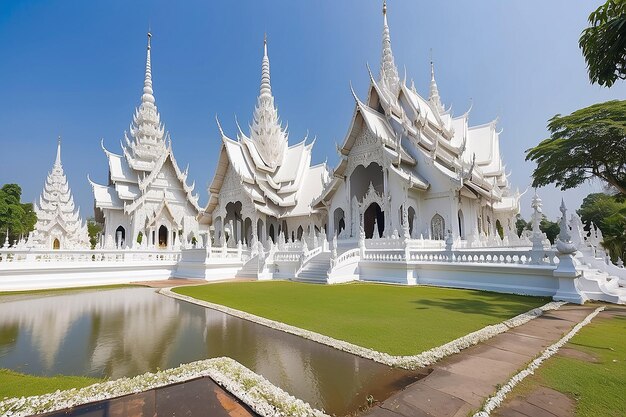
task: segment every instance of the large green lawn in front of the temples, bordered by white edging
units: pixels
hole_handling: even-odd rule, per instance
[[[436,287],[285,281],[174,290],[392,355],[412,355],[541,306],[547,298]]]

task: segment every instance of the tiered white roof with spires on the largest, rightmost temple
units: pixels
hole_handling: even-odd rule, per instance
[[[489,201],[494,210],[517,210],[519,193],[512,193],[500,155],[500,137],[496,121],[469,126],[469,110],[454,117],[446,109],[435,80],[431,62],[428,99],[400,80],[391,51],[387,24],[387,6],[383,5],[381,70],[378,80],[370,71],[368,99],[364,103],[356,94],[355,111],[348,135],[339,148],[341,161],[334,170],[320,199],[328,202],[346,173],[348,155],[361,128],[367,128],[383,143],[384,152],[393,161],[390,171],[407,183],[408,188],[428,190],[429,182],[417,168],[425,159],[436,171],[456,184],[462,194]]]

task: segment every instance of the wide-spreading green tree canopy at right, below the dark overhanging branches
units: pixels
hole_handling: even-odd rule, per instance
[[[551,136],[526,151],[537,163],[533,187],[555,183],[562,190],[600,178],[626,195],[626,101],[612,100],[557,114]]]

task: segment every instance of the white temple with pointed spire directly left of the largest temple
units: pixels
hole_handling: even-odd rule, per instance
[[[238,242],[277,242],[319,233],[326,214],[311,208],[330,180],[326,164],[311,166],[315,140],[289,145],[278,117],[270,83],[267,39],[261,65],[261,88],[250,135],[241,128],[237,139],[225,135],[209,202],[202,223],[213,225],[214,239],[229,246]],[[238,126],[239,127],[239,126]]]

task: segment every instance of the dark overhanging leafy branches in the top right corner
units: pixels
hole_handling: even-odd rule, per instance
[[[589,24],[578,41],[589,79],[610,87],[626,79],[626,1],[608,0],[589,15]]]

